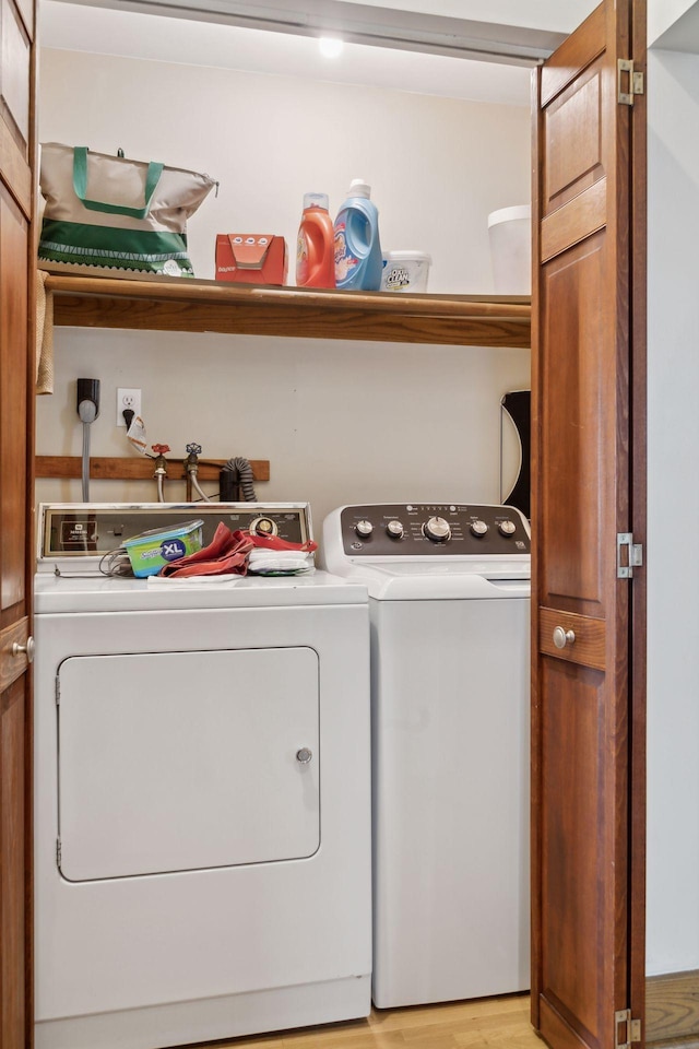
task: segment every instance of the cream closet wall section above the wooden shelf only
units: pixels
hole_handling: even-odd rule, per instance
[[[39,135],[218,179],[189,224],[201,278],[216,233],[277,233],[293,248],[304,193],[328,192],[336,212],[363,176],[384,248],[429,251],[431,291],[484,293],[487,214],[530,197],[524,107],[228,69],[45,49]]]

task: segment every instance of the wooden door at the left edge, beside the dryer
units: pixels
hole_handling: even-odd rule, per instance
[[[34,25],[34,0],[0,0],[0,1049],[33,1029]]]

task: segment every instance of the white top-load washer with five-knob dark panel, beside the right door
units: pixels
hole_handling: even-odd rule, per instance
[[[374,1001],[524,990],[528,522],[502,506],[346,506],[323,549],[369,589]]]

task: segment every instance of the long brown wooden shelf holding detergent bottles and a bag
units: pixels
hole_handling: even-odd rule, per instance
[[[530,299],[522,296],[335,292],[46,269],[54,322],[64,327],[513,349],[531,344]]]

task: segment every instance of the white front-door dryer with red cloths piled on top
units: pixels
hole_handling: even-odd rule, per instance
[[[85,534],[114,546],[173,512],[241,523],[221,505],[143,510],[58,508],[36,578],[36,1047],[366,1016],[366,589],[95,576]],[[299,539],[305,514],[262,516]]]

